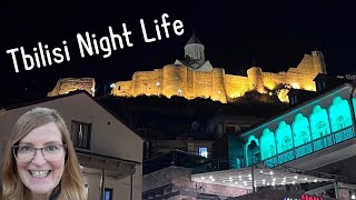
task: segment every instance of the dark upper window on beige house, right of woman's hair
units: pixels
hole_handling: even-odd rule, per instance
[[[75,147],[90,149],[91,123],[71,121],[71,140]]]

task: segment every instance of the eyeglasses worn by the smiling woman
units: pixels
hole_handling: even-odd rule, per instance
[[[49,144],[42,148],[34,148],[31,146],[12,146],[14,158],[19,162],[30,162],[33,160],[37,150],[41,150],[43,158],[49,162],[59,161],[63,156],[66,144]]]

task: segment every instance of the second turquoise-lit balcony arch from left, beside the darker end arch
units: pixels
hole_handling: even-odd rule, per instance
[[[261,160],[276,156],[276,140],[275,134],[265,129],[260,137],[260,158]]]

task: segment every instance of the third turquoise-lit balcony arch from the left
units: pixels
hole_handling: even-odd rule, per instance
[[[276,130],[277,152],[281,153],[293,148],[290,126],[280,121]]]

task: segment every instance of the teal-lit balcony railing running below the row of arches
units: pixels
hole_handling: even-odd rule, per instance
[[[274,168],[276,166],[283,164],[294,159],[301,158],[304,156],[310,154],[322,149],[335,146],[337,143],[349,140],[352,138],[355,138],[355,133],[353,132],[353,128],[348,127],[337,132],[332,132],[322,138],[313,140],[312,142],[296,147],[286,152],[278,153],[274,157],[265,159],[263,162],[265,162],[267,167]]]

